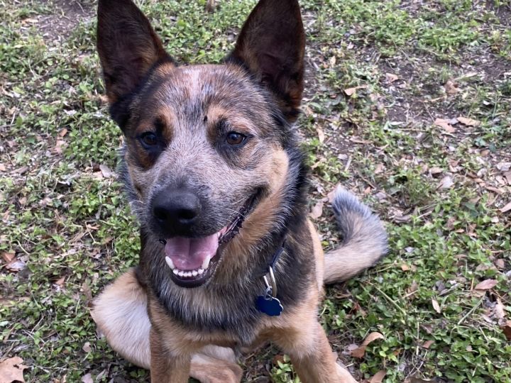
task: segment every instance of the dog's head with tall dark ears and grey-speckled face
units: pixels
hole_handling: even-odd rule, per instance
[[[271,229],[285,192],[303,90],[297,0],[261,0],[222,64],[191,66],[131,0],[99,0],[97,48],[147,240],[163,244],[175,283],[203,284],[241,223]]]

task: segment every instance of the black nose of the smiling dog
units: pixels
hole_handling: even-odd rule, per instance
[[[199,197],[185,189],[163,189],[153,199],[153,216],[167,232],[187,231],[201,212]]]

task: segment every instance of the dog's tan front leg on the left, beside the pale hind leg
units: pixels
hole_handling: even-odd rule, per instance
[[[187,383],[192,355],[176,355],[168,350],[162,338],[150,331],[150,376],[153,383]]]

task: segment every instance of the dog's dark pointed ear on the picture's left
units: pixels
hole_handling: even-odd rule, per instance
[[[131,0],[99,0],[97,50],[111,103],[135,90],[155,63],[172,61]]]

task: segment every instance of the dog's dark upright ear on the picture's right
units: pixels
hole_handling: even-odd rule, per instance
[[[288,121],[302,101],[305,32],[297,0],[260,0],[227,62],[245,65],[277,97]]]

